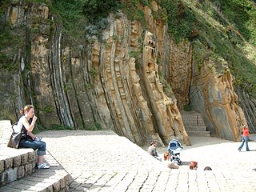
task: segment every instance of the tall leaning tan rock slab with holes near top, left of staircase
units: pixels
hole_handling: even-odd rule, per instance
[[[156,43],[153,34],[146,32],[143,49],[143,76],[146,92],[150,98],[150,106],[158,125],[158,133],[164,142],[170,142],[171,138],[180,137],[186,144],[190,144],[188,135],[182,123],[176,102],[167,97],[159,80],[158,64],[156,63]]]

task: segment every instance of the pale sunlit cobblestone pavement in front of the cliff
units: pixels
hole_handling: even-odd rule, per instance
[[[256,191],[255,140],[249,143],[252,151],[238,152],[238,142],[190,138],[192,146],[185,146],[180,157],[184,165],[170,170],[147,154],[146,147],[110,130],[40,134],[71,175],[70,191]],[[159,147],[159,152],[165,150]],[[192,160],[199,163],[198,170],[189,169]],[[205,166],[213,170],[203,171]]]

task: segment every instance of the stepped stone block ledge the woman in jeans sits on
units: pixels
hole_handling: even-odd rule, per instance
[[[47,151],[50,169],[38,170],[36,151],[7,147],[11,131],[10,121],[0,121],[0,191],[69,191],[70,174]]]

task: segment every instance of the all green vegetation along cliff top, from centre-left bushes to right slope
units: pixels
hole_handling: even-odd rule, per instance
[[[122,3],[121,3],[122,2]],[[150,6],[146,0],[62,0],[54,1],[54,9],[61,15],[69,34],[83,35],[86,40],[100,36],[106,29],[106,17],[110,12],[122,9],[131,20],[139,20],[145,27],[145,18],[138,3]],[[245,41],[256,46],[256,6],[250,0],[157,0],[162,7],[154,18],[162,18],[169,26],[170,35],[179,42],[182,39],[194,45],[194,59],[198,70],[202,60],[223,58],[231,73],[236,77],[236,85],[242,86],[256,97],[256,54],[246,55]],[[76,22],[74,22],[76,21]],[[86,34],[84,34],[86,31]],[[80,32],[80,33],[79,33]],[[99,37],[100,38],[100,37]],[[253,50],[253,48],[251,48]],[[248,59],[250,58],[250,59]],[[225,72],[219,63],[220,73]],[[249,88],[250,87],[250,90]]]

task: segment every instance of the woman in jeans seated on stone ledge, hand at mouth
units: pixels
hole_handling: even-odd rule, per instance
[[[43,156],[46,154],[46,143],[39,141],[40,139],[37,139],[37,137],[32,134],[35,122],[37,121],[37,117],[34,115],[34,106],[27,105],[20,111],[20,113],[23,114],[23,116],[18,120],[18,127],[22,131],[20,147],[38,150],[38,169],[50,168],[50,166],[42,162]]]

